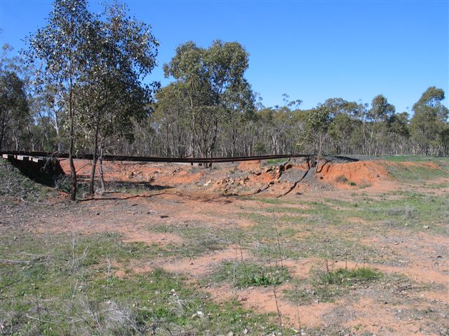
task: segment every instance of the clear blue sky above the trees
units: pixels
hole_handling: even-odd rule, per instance
[[[431,85],[449,94],[449,1],[125,2],[161,43],[151,79],[163,85],[161,66],[177,45],[220,38],[250,53],[246,77],[265,106],[282,104],[283,93],[302,99],[302,108],[384,94],[401,112]],[[0,3],[1,43],[19,50],[45,25],[53,1]],[[100,9],[100,1],[90,3]]]

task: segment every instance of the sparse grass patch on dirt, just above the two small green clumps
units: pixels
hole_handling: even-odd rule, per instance
[[[314,214],[314,209],[272,208],[269,211],[296,211],[309,216],[264,216],[262,214],[245,214],[255,221],[252,228],[246,230],[244,237],[252,237],[253,253],[262,258],[348,258],[364,262],[388,262],[388,258],[375,248],[363,245],[357,239],[349,239],[328,232],[330,225],[343,225],[346,211],[337,211],[329,205],[320,204],[321,213]],[[334,216],[335,214],[335,216]],[[277,233],[276,233],[277,225]],[[345,224],[346,225],[346,224]],[[351,225],[354,230],[354,225]],[[352,231],[351,231],[352,232]],[[305,233],[305,235],[304,235]],[[297,234],[301,234],[297,237]],[[246,242],[245,244],[249,244]]]

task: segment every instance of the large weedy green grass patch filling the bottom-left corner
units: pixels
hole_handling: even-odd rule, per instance
[[[72,244],[73,243],[73,244]],[[276,318],[214,302],[180,276],[154,269],[114,275],[108,260],[153,258],[155,246],[116,235],[72,237],[9,232],[0,237],[0,323],[8,335],[256,335]],[[261,280],[262,281],[262,280]],[[288,334],[291,335],[291,334]]]

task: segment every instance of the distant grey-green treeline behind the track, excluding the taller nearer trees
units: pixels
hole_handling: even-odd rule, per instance
[[[150,155],[192,155],[189,106],[170,104],[172,87],[164,87],[155,113],[137,127],[145,141],[129,151]],[[429,87],[413,105],[413,117],[396,113],[378,95],[370,105],[327,99],[314,109],[285,106],[261,107],[230,114],[219,125],[215,155],[328,153],[359,155],[449,155],[448,109],[444,92]],[[176,101],[179,104],[179,100]],[[142,144],[152,144],[150,147]]]

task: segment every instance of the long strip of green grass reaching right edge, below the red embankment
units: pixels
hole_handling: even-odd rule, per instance
[[[430,226],[430,232],[448,235],[445,218],[449,214],[447,195],[427,195],[409,191],[387,193],[381,197],[370,198],[354,195],[354,200],[325,199],[322,202],[304,202],[307,208],[267,207],[269,214],[282,223],[298,225],[298,230],[309,227],[350,229],[354,237],[368,232],[384,232],[386,227],[398,230],[422,230]],[[262,214],[248,216],[257,223],[270,223],[274,219]],[[355,225],[348,218],[361,218],[365,224]]]

